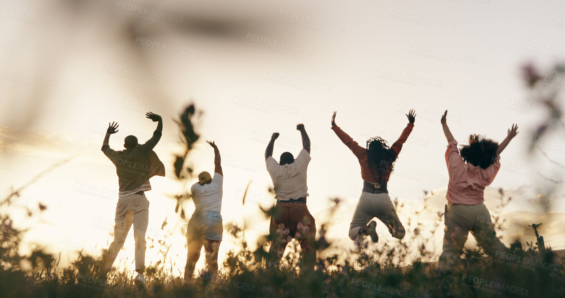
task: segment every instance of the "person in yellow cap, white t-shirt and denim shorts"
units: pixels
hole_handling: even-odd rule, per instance
[[[193,276],[194,266],[200,258],[204,246],[206,253],[207,278],[215,279],[218,274],[218,249],[224,232],[221,221],[221,197],[224,174],[221,171],[220,151],[214,142],[208,141],[214,148],[214,179],[208,172],[198,174],[198,182],[190,187],[196,207],[186,229],[188,255],[184,279]]]

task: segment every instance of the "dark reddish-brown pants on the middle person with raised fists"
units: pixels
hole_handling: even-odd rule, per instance
[[[279,230],[279,226],[283,228]],[[286,245],[293,238],[298,240],[302,249],[303,263],[314,269],[316,262],[316,222],[302,202],[279,202],[275,205],[271,224],[269,227],[272,240],[270,253],[276,253],[277,258],[282,258]]]

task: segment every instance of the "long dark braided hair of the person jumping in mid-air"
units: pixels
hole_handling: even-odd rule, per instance
[[[369,169],[373,177],[380,183],[386,183],[385,176],[390,174],[394,168],[396,155],[390,150],[388,143],[381,137],[372,137],[367,140],[367,159]],[[379,178],[375,176],[375,171],[379,174]]]

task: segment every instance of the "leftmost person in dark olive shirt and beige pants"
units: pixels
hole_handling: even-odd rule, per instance
[[[127,136],[124,139],[125,150],[115,151],[110,149],[108,141],[112,133],[118,132],[118,123],[112,122],[108,125],[106,137],[102,145],[102,152],[116,166],[118,174],[119,198],[116,206],[116,219],[114,227],[114,241],[110,244],[106,256],[103,257],[101,277],[106,278],[108,272],[118,256],[118,252],[124,246],[125,237],[133,224],[133,237],[136,241],[136,283],[145,287],[145,232],[149,221],[149,201],[145,192],[151,190],[149,178],[157,175],[164,176],[163,163],[153,151],[163,131],[163,119],[151,112],[145,114],[153,122],[159,122],[153,137],[145,144],[137,144],[137,137]]]

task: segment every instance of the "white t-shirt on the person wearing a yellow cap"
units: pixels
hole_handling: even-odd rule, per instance
[[[192,200],[197,211],[216,211],[220,213],[223,182],[224,178],[220,174],[214,173],[212,182],[204,185],[200,185],[197,182],[190,187]]]

